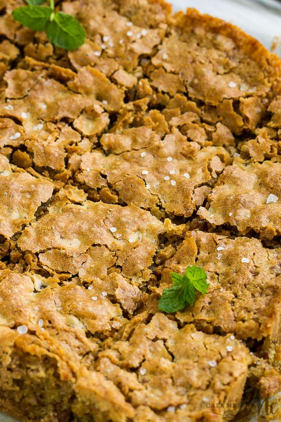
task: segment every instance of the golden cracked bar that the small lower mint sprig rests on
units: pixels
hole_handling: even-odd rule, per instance
[[[188,232],[166,261],[156,292],[171,286],[171,271],[184,273],[186,266],[196,264],[207,274],[208,293],[178,312],[179,321],[207,332],[234,332],[244,340],[279,340],[280,259],[280,248],[266,249],[257,239]]]

